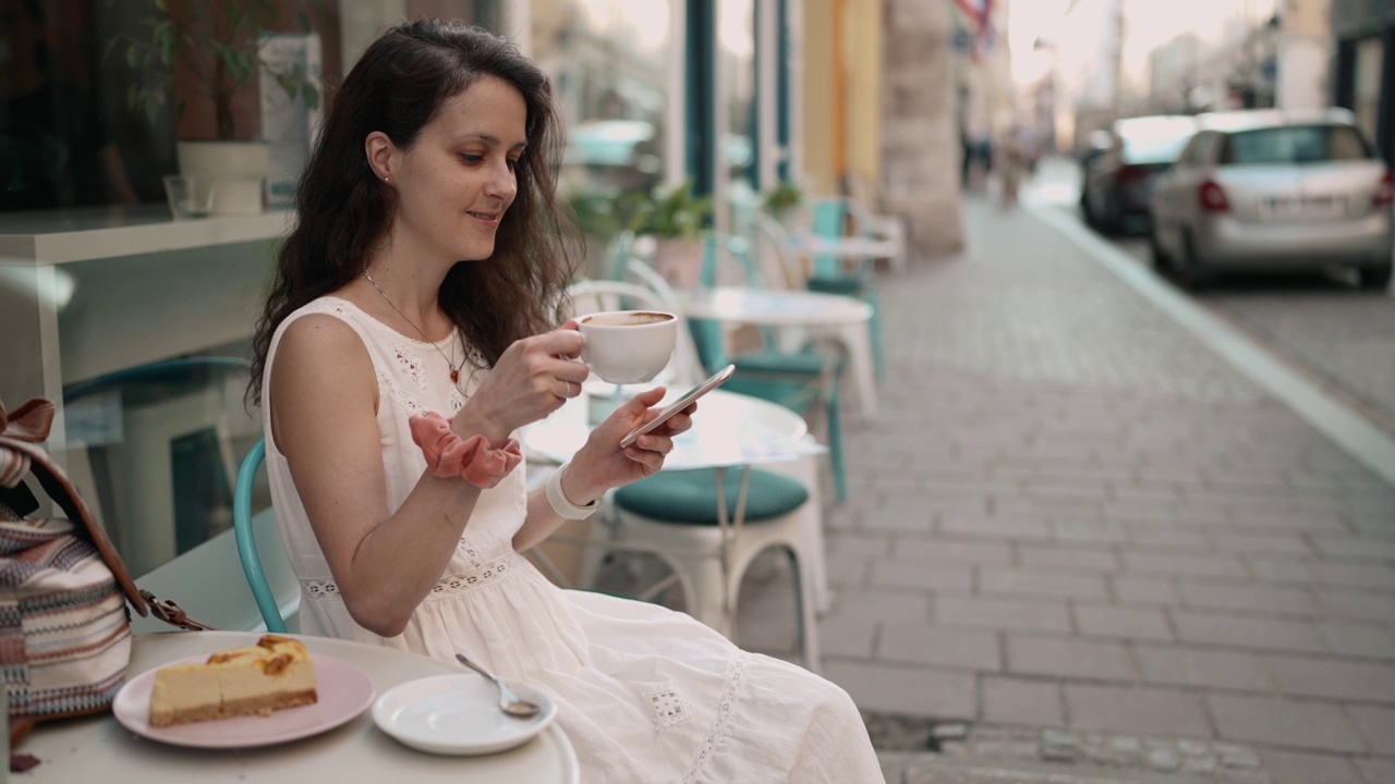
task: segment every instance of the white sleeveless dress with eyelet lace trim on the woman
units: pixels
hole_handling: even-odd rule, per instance
[[[293,312],[339,318],[363,339],[378,377],[378,427],[388,506],[398,508],[425,470],[407,419],[453,416],[465,392],[449,381],[448,356],[399,335],[346,300],[324,297]],[[462,377],[469,372],[470,364]],[[545,686],[582,766],[582,781],[605,783],[880,783],[866,728],[848,695],[809,671],[745,653],[689,615],[654,604],[562,590],[512,550],[526,512],[525,465],[481,494],[441,580],[406,631],[382,638],[345,608],[296,494],[286,458],[265,421],[266,469],[280,537],[301,587],[301,632],[406,649],[455,663],[480,661],[505,679]]]

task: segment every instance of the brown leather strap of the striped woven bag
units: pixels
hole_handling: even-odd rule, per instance
[[[78,495],[63,469],[42,446],[53,427],[54,412],[53,402],[43,398],[25,400],[8,414],[4,410],[4,403],[0,402],[0,484],[14,487],[29,473],[38,477],[43,491],[63,509],[63,513],[75,523],[81,522],[81,529],[86,532],[88,540],[112,569],[116,585],[121,587],[127,601],[142,618],[153,614],[160,621],[181,629],[212,629],[212,626],[190,618],[173,601],[158,600],[149,591],[135,587],[135,580],[131,579],[131,572],[126,568],[126,561],[121,559],[116,545],[112,544],[106,529],[82,502],[82,497]]]

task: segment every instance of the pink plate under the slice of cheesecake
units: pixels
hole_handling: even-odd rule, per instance
[[[127,730],[152,741],[201,749],[240,749],[269,746],[299,738],[308,738],[359,716],[372,703],[372,681],[368,674],[347,661],[314,653],[315,691],[319,702],[278,710],[271,716],[239,716],[216,721],[151,727],[151,688],[155,670],[131,678],[116,693],[112,713]],[[208,656],[191,656],[170,664],[195,664]]]

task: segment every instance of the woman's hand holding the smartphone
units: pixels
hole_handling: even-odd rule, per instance
[[[658,416],[653,406],[664,398],[664,388],[635,395],[610,417],[596,425],[564,477],[562,491],[576,504],[589,504],[612,487],[622,487],[658,473],[664,458],[674,449],[674,437],[692,427],[698,403],[689,405],[668,421],[621,448],[622,438]],[[575,492],[575,495],[573,495]]]

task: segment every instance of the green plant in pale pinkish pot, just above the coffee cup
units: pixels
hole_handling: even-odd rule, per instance
[[[675,286],[696,286],[702,278],[702,236],[711,212],[711,197],[693,194],[692,180],[621,199],[625,225],[638,236],[654,239],[654,269]]]

